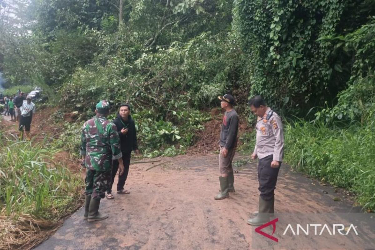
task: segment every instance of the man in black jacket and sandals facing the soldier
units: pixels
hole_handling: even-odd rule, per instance
[[[118,131],[118,135],[120,135],[120,146],[121,146],[121,153],[122,153],[122,160],[124,163],[124,174],[118,176],[117,182],[117,193],[119,194],[128,194],[130,193],[127,190],[124,190],[125,181],[127,178],[127,174],[129,173],[129,165],[130,165],[130,156],[132,150],[135,151],[136,154],[139,154],[138,144],[137,144],[137,135],[135,130],[135,123],[130,116],[130,105],[129,104],[121,104],[120,110],[117,114],[117,118],[112,121]],[[107,199],[113,199],[112,195],[112,185],[115,180],[115,176],[118,170],[118,160],[114,160],[112,164],[112,174],[111,174],[111,183],[108,185],[107,189]]]

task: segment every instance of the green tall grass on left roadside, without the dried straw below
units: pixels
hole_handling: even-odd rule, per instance
[[[22,212],[55,218],[66,213],[64,208],[79,196],[73,191],[81,188],[82,182],[68,169],[50,163],[57,151],[43,148],[43,143],[31,147],[3,133],[0,138],[1,148],[6,149],[0,154],[0,199],[5,214]]]

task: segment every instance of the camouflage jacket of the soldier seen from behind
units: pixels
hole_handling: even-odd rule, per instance
[[[122,157],[115,124],[101,115],[86,121],[81,132],[80,154],[85,156],[86,168],[111,170],[112,160]]]

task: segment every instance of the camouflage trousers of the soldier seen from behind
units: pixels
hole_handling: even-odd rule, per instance
[[[92,199],[103,199],[110,181],[111,171],[103,172],[87,169],[85,195],[91,195]]]

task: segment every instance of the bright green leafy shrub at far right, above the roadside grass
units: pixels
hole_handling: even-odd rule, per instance
[[[320,40],[335,45],[336,54],[351,53],[354,62],[347,88],[338,94],[338,103],[317,112],[316,120],[357,120],[371,122],[375,118],[375,17],[369,23],[346,36],[321,37]]]

